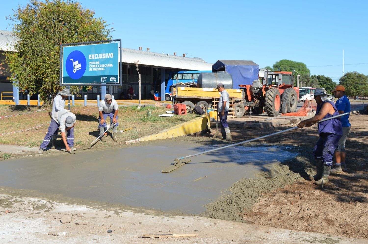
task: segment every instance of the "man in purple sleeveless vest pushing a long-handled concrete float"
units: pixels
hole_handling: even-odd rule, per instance
[[[317,103],[316,115],[310,119],[303,120],[298,124],[298,128],[309,127],[322,119],[326,119],[339,114],[333,104],[333,96],[326,94],[325,88],[317,88],[314,92],[314,99]],[[337,147],[340,137],[343,135],[340,118],[330,119],[318,124],[319,139],[314,147],[313,154],[316,159],[317,173],[309,176],[315,180],[315,184],[328,183],[330,175],[333,153]]]

